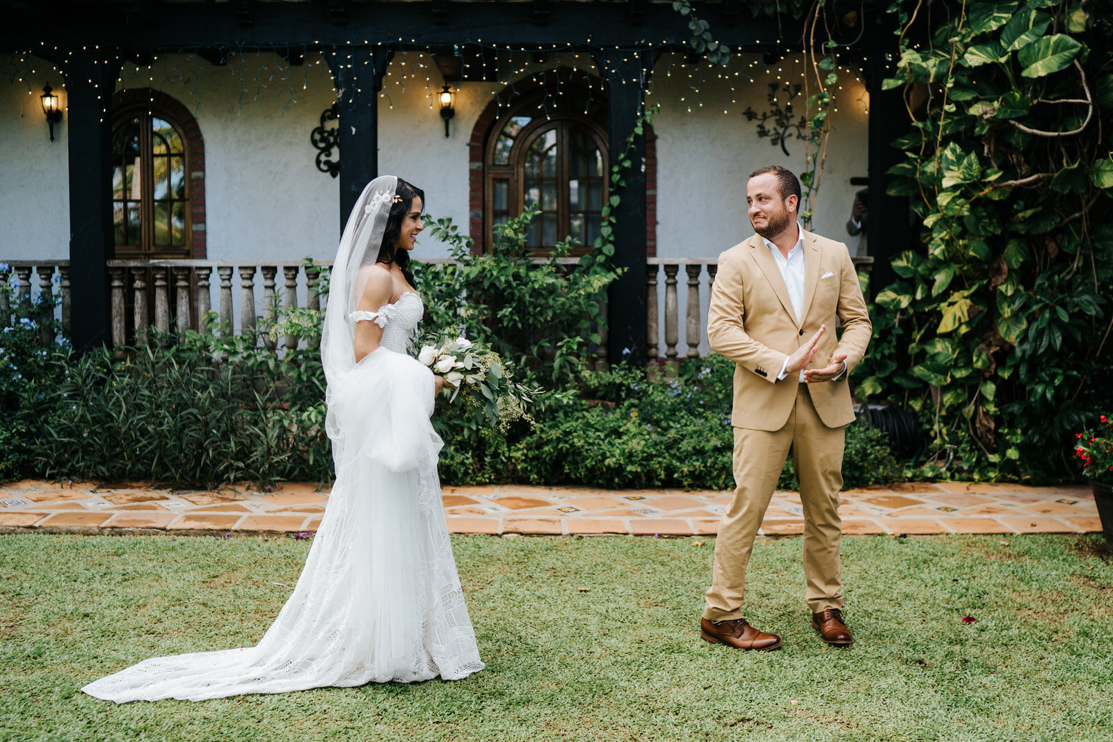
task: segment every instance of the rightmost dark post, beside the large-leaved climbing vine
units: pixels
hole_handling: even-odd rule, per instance
[[[893,140],[908,130],[908,111],[900,88],[881,90],[881,81],[894,73],[892,60],[895,58],[893,52],[873,51],[866,67],[866,89],[869,91],[869,226],[866,248],[874,257],[869,277],[870,298],[896,280],[892,260],[912,245],[908,198],[886,192],[890,179],[886,172],[904,159],[904,154],[893,146]]]

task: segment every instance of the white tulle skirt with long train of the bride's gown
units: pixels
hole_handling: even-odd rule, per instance
[[[336,483],[254,647],[155,657],[81,690],[117,703],[459,680],[483,669],[441,505],[433,378],[380,348],[328,388]]]

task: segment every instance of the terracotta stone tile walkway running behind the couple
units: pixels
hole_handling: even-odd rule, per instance
[[[0,487],[0,533],[297,533],[316,530],[327,499],[312,483],[262,493],[28,479]],[[500,485],[444,487],[443,502],[454,533],[687,536],[713,535],[730,493]],[[1101,531],[1085,486],[898,483],[844,492],[839,512],[847,534]],[[761,533],[802,530],[800,496],[775,494]]]

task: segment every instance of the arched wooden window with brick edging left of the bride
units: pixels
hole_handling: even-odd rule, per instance
[[[116,257],[204,258],[204,181],[195,178],[198,166],[204,172],[204,145],[197,122],[181,103],[155,90],[124,90],[114,109]]]

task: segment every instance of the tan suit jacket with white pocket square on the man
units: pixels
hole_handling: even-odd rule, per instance
[[[807,368],[824,368],[836,350],[853,369],[866,353],[873,327],[858,274],[843,243],[804,230],[804,318],[797,323],[785,279],[757,235],[719,256],[707,335],[711,349],[735,368],[735,427],[779,431],[796,400],[799,373],[777,380],[785,359],[827,325]],[[843,336],[836,339],[837,321]],[[854,421],[846,380],[808,384],[811,402],[828,427]]]

